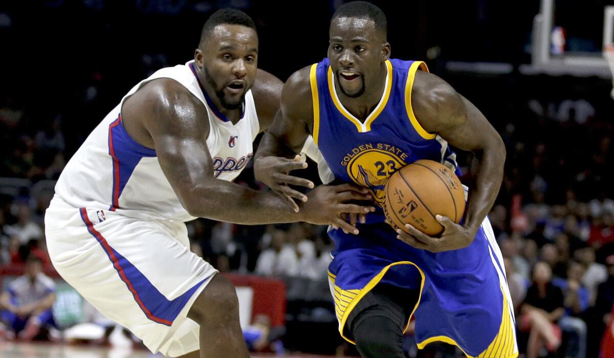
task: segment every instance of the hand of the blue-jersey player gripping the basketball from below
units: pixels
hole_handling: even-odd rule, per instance
[[[416,247],[416,249],[430,252],[462,249],[472,243],[475,233],[469,232],[467,228],[454,223],[448,217],[437,215],[435,219],[443,226],[443,232],[438,238],[426,235],[410,224],[405,225],[406,230],[410,234],[398,229],[397,238],[408,245]]]

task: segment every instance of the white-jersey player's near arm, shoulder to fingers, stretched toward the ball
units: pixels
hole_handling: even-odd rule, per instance
[[[367,207],[344,204],[338,197],[362,197],[354,187],[327,187],[310,193],[314,204],[292,211],[282,198],[214,177],[207,146],[209,120],[198,99],[171,79],[153,80],[128,98],[126,120],[139,120],[150,136],[158,161],[181,204],[192,215],[237,224],[269,224],[305,220],[332,224],[338,212]],[[131,118],[128,118],[130,116]],[[337,192],[348,192],[335,195]]]

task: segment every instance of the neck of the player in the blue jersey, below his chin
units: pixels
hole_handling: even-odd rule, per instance
[[[361,122],[364,122],[367,117],[373,112],[375,107],[378,106],[379,101],[381,101],[382,96],[384,95],[384,90],[386,89],[386,76],[388,74],[388,69],[386,63],[382,63],[379,66],[379,74],[378,80],[374,84],[368,84],[371,90],[365,91],[359,97],[348,97],[344,95],[343,91],[341,91],[341,85],[339,84],[339,79],[335,76],[335,90],[337,93],[337,97],[351,114],[354,115]]]

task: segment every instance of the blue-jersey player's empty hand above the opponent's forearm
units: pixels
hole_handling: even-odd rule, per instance
[[[278,193],[287,203],[298,212],[298,205],[292,198],[303,202],[308,198],[305,194],[298,192],[288,186],[288,184],[300,187],[313,188],[313,182],[301,177],[290,176],[288,173],[295,169],[305,169],[307,163],[301,160],[300,155],[293,159],[283,157],[260,157],[254,161],[254,176],[258,181],[270,187],[273,192]]]

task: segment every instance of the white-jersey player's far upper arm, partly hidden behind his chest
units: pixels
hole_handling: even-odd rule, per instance
[[[284,87],[284,82],[281,82],[272,74],[258,69],[252,87],[252,95],[256,104],[261,132],[266,131],[271,126],[275,114],[279,111],[282,87]]]

